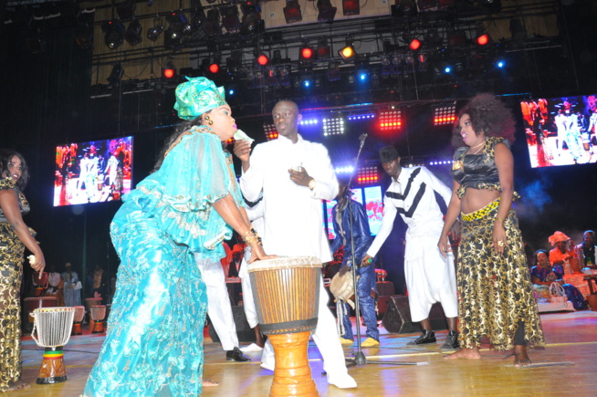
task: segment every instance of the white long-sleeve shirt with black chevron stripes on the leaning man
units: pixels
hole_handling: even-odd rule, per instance
[[[444,227],[444,214],[435,200],[439,193],[450,203],[452,191],[425,167],[404,168],[398,180],[392,184],[383,197],[383,220],[379,233],[373,240],[367,255],[375,256],[393,228],[396,214],[403,217],[408,226],[406,237],[440,235]]]

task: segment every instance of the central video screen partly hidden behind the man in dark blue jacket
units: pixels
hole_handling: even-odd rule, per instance
[[[358,187],[351,189],[352,199],[365,206],[367,211],[367,218],[369,220],[369,228],[372,235],[377,235],[382,227],[383,218],[383,195],[382,186]],[[323,225],[324,231],[327,225],[327,234],[330,240],[336,238],[334,233],[334,225],[331,219],[331,209],[336,205],[336,200],[325,201],[323,203],[323,214],[326,221]]]

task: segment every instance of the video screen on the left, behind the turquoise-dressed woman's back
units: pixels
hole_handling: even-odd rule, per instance
[[[120,200],[131,173],[132,137],[57,146],[54,206]]]

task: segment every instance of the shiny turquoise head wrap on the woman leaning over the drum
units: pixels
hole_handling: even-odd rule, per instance
[[[226,104],[224,87],[215,87],[209,78],[186,78],[176,87],[174,110],[183,120],[193,120],[204,112]]]

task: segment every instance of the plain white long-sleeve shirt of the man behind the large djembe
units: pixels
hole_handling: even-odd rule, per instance
[[[264,231],[261,238],[268,255],[332,257],[323,232],[321,200],[338,195],[338,182],[328,150],[320,143],[292,143],[285,137],[260,143],[251,154],[249,169],[240,178],[248,201],[263,191]],[[288,170],[302,166],[315,179],[313,191],[290,180]]]

